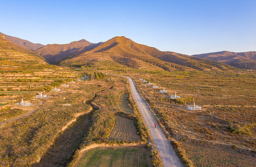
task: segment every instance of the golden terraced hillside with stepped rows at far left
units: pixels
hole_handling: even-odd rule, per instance
[[[49,92],[76,77],[69,68],[49,65],[38,57],[0,38],[0,98],[6,103],[14,104],[25,94]]]

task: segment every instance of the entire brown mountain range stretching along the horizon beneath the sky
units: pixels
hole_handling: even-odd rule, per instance
[[[3,35],[7,38],[12,37]],[[16,37],[13,37],[13,39],[22,40]],[[30,43],[34,44],[34,46],[36,45],[35,43]],[[21,47],[28,46],[22,45]],[[256,70],[256,52],[221,51],[189,56],[182,53],[160,51],[157,48],[136,43],[125,36],[116,36],[108,41],[99,43],[81,39],[67,44],[47,44],[33,51],[34,54],[39,54],[46,59],[47,63],[51,64],[58,64],[61,61],[61,64],[63,64],[63,61],[69,62],[68,59],[81,56],[83,56],[82,60],[85,62],[99,61],[103,60],[103,55],[108,52],[106,55],[108,60],[134,68],[142,68],[142,66],[147,66],[146,64],[148,63],[167,71],[173,68],[188,71],[192,69],[200,71],[210,69],[234,70],[233,67]],[[79,58],[75,59],[78,61]]]

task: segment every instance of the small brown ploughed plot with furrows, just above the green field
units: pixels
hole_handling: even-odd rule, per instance
[[[140,137],[136,133],[136,129],[132,120],[116,115],[115,125],[109,136],[109,139],[138,141],[140,140]]]

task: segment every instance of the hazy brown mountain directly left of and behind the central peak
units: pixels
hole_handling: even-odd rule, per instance
[[[97,43],[91,43],[82,39],[68,44],[47,44],[42,48],[36,49],[35,52],[43,56],[47,62],[56,63],[71,54],[86,52],[96,46],[98,46]]]

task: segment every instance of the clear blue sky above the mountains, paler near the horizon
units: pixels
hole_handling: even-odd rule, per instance
[[[256,51],[256,0],[0,0],[0,32],[34,43],[115,36],[184,54]]]

